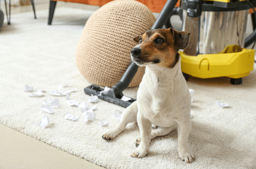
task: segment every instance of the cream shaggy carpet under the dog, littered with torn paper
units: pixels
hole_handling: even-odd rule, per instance
[[[253,169],[256,167],[256,70],[243,78],[241,85],[230,84],[227,77],[199,79],[190,77],[187,85],[195,90],[191,110],[192,130],[189,146],[196,160],[184,163],[177,154],[177,131],[156,137],[150,142],[147,157],[132,158],[135,139],[140,136],[136,123],[115,139],[106,142],[101,135],[118,123],[113,111],[124,108],[99,100],[88,103],[83,89],[91,83],[83,78],[75,64],[77,44],[84,24],[92,11],[57,8],[53,24],[47,25],[48,10],[12,15],[11,25],[0,29],[0,123],[55,146],[77,157],[108,169]],[[255,64],[254,64],[255,67]],[[24,92],[25,84],[43,89],[40,97]],[[84,122],[83,113],[70,106],[64,96],[52,96],[58,85],[71,92],[69,98],[97,106],[94,121]],[[138,88],[124,94],[136,98]],[[54,113],[40,110],[44,100],[58,98]],[[219,108],[221,101],[230,107]],[[49,102],[49,101],[48,101]],[[64,119],[65,113],[78,116]],[[49,124],[41,128],[43,115]],[[101,127],[99,122],[107,121]]]

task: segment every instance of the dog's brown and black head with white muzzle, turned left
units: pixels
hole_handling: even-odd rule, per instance
[[[173,68],[179,60],[179,49],[187,46],[189,32],[151,29],[133,38],[139,44],[131,50],[132,61],[139,66],[157,64]]]

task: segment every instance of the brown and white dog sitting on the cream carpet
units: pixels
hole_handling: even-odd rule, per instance
[[[178,130],[178,155],[192,163],[195,156],[188,145],[191,130],[191,96],[181,72],[178,51],[187,46],[189,32],[169,29],[151,29],[135,37],[138,42],[131,50],[131,59],[138,66],[146,66],[139,84],[137,100],[121,115],[120,122],[103,139],[111,140],[130,122],[138,122],[141,139],[136,140],[130,155],[143,158],[149,152],[149,142],[157,136]],[[152,125],[157,128],[152,130]]]

